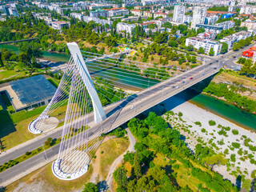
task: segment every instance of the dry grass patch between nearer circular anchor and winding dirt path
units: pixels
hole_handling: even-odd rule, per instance
[[[113,138],[102,143],[99,147],[100,153],[100,174],[103,179],[106,179],[109,168],[114,162],[114,159],[118,158],[129,146],[128,138]],[[103,153],[102,153],[103,151]]]

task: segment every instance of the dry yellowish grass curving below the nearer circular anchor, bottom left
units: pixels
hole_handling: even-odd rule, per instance
[[[67,191],[76,190],[76,189],[79,190],[83,188],[86,182],[88,182],[93,172],[92,167],[89,166],[89,170],[81,178],[75,179],[73,181],[63,181],[56,178],[52,174],[51,165],[52,165],[52,162],[50,162],[48,165],[43,166],[38,170],[35,170],[31,174],[26,175],[24,178],[19,179],[17,182],[10,184],[9,186],[6,187],[7,191],[14,191],[19,184],[24,183],[25,186],[27,186],[35,181],[37,181],[37,184],[38,182],[42,181],[43,182],[42,186],[41,185],[40,186],[43,187],[43,189],[45,189],[46,191],[67,192]]]

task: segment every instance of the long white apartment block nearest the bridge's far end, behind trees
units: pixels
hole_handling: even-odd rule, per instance
[[[186,38],[186,46],[194,46],[194,48],[199,49],[202,47],[206,54],[209,54],[210,48],[214,49],[214,56],[220,54],[222,50],[222,44],[217,41],[202,39],[202,38]]]

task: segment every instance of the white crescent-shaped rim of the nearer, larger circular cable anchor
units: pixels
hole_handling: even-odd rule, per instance
[[[76,178],[80,178],[83,174],[86,174],[88,170],[88,165],[86,164],[86,166],[82,167],[82,169],[80,169],[79,171],[72,174],[67,174],[61,170],[61,162],[62,159],[57,159],[55,162],[53,162],[53,165],[51,166],[54,176],[61,180],[74,180]]]

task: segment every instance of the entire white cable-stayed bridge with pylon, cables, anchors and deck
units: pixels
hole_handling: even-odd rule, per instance
[[[74,42],[68,43],[68,47],[71,58],[58,89],[46,109],[29,126],[34,134],[54,128],[50,126],[50,115],[66,106],[62,142],[52,166],[54,175],[63,180],[86,173],[90,158],[101,144],[102,133],[114,130],[219,71],[216,63],[197,66],[170,78],[168,66],[130,61],[123,58],[126,53],[93,54],[80,51]],[[98,75],[102,78],[97,78]],[[123,90],[128,86],[138,91],[127,95]],[[143,90],[143,87],[147,88]],[[111,104],[103,108],[104,99]]]

